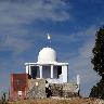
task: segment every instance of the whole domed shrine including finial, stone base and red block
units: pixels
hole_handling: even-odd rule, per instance
[[[41,49],[37,57],[36,63],[25,63],[25,74],[11,74],[11,100],[80,95],[80,76],[68,80],[68,63],[58,62],[53,48]]]

